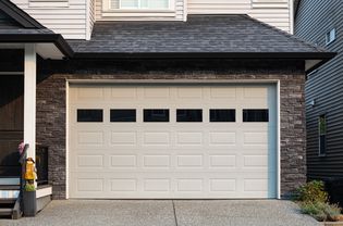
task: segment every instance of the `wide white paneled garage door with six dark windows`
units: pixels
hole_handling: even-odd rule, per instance
[[[275,198],[272,85],[71,85],[70,198]]]

